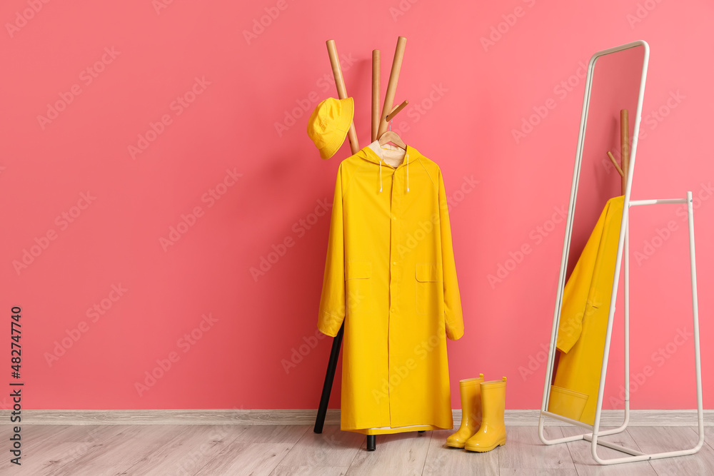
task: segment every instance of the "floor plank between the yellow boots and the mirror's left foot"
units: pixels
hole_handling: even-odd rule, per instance
[[[545,427],[545,436],[563,437],[561,427]],[[506,427],[506,445],[498,448],[501,470],[575,470],[567,445],[543,445],[538,427]]]

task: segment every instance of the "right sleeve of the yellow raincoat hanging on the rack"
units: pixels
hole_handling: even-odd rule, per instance
[[[444,283],[444,319],[446,320],[446,337],[451,340],[460,339],[463,335],[463,314],[461,313],[461,295],[458,293],[456,280],[456,263],[451,245],[451,223],[448,219],[446,189],[443,176],[439,171],[439,226],[441,227],[441,264]]]

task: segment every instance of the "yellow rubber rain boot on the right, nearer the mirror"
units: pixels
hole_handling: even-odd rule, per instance
[[[506,377],[481,383],[481,427],[468,439],[468,451],[486,452],[506,444]]]

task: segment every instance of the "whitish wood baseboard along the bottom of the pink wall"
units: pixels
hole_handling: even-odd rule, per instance
[[[317,410],[24,410],[24,425],[314,425]],[[506,410],[506,425],[538,426],[540,410]],[[622,410],[603,410],[603,427],[622,424]],[[461,410],[453,410],[454,426]],[[325,425],[339,425],[340,410],[328,410]],[[9,410],[0,425],[16,425]],[[566,425],[548,418],[547,426]],[[714,410],[704,410],[704,425],[714,426]],[[696,410],[631,410],[630,426],[697,426]]]

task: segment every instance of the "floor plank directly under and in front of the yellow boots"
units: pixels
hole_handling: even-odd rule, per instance
[[[436,430],[431,435],[424,475],[498,475],[498,452],[477,453],[446,446],[446,438],[456,430]]]

